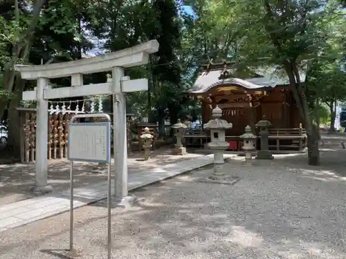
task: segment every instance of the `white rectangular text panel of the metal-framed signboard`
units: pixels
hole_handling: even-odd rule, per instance
[[[69,160],[111,162],[110,122],[70,123]]]

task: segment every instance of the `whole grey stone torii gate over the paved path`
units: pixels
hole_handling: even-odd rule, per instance
[[[115,195],[126,198],[127,190],[127,134],[125,93],[147,90],[147,79],[130,80],[124,77],[124,68],[148,63],[149,54],[158,51],[156,40],[145,44],[75,61],[40,66],[16,65],[22,79],[37,80],[35,90],[25,91],[23,100],[37,101],[36,121],[36,173],[35,193],[48,193],[52,187],[47,182],[48,99],[84,95],[113,94],[113,148],[115,160]],[[83,75],[111,71],[112,79],[103,84],[83,85]],[[71,87],[51,88],[48,79],[71,77]]]

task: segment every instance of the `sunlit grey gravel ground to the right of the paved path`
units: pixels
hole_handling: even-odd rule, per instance
[[[112,210],[113,258],[345,259],[345,178],[292,161],[232,160],[226,171],[242,178],[233,186],[197,182],[204,169],[136,191],[136,206]],[[75,211],[75,258],[107,258],[106,215],[104,201]],[[0,258],[70,258],[68,222],[64,213],[1,232]]]

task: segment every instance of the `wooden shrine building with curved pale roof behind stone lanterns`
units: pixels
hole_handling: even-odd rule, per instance
[[[188,94],[201,102],[203,124],[211,119],[213,108],[219,106],[222,109],[221,118],[233,124],[233,128],[226,131],[230,149],[241,149],[239,135],[244,133],[247,125],[257,133],[255,124],[264,116],[272,124],[271,149],[304,148],[306,134],[288,77],[278,75],[275,68],[248,69],[240,76],[235,63],[226,61],[210,62],[201,68]],[[305,73],[300,72],[300,80],[305,81]],[[205,135],[203,128],[199,133]]]

